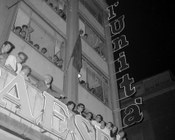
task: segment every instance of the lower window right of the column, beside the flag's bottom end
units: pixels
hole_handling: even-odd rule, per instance
[[[80,84],[103,103],[108,104],[108,79],[84,59],[80,74]]]

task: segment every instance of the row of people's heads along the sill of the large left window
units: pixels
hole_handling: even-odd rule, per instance
[[[34,49],[39,51],[42,55],[47,57],[47,48],[41,47],[38,43],[34,43],[31,40],[31,33],[34,32],[34,29],[32,29],[28,25],[22,25],[22,26],[16,26],[13,29],[14,33],[17,34],[19,37],[21,37],[23,40],[28,42]],[[48,59],[54,63],[59,68],[63,67],[63,59],[59,58],[56,54],[53,56],[49,56]]]

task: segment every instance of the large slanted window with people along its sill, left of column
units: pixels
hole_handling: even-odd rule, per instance
[[[24,3],[21,3],[17,11],[13,28],[36,51],[63,68],[65,39]]]

